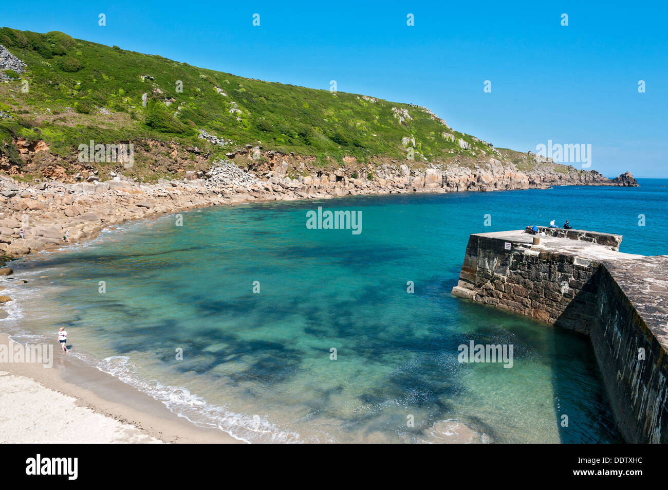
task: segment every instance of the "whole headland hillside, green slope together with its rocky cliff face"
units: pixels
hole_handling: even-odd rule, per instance
[[[266,178],[362,192],[635,182],[495,148],[423,106],[242,78],[55,31],[0,28],[0,76],[0,172],[21,180],[105,180],[116,162],[81,162],[78,148],[132,144],[136,164],[123,173],[144,182],[208,178],[231,160]]]

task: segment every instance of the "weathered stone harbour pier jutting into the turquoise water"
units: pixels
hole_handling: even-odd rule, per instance
[[[539,232],[471,235],[452,293],[587,334],[623,437],[668,442],[668,255],[619,252],[621,235]]]

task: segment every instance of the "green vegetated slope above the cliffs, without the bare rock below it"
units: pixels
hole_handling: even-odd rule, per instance
[[[59,156],[75,154],[79,144],[91,139],[116,143],[152,138],[202,148],[197,138],[202,128],[233,142],[229,148],[213,148],[211,158],[242,144],[261,142],[265,149],[317,156],[323,164],[325,156],[339,162],[343,156],[355,156],[361,162],[375,157],[405,160],[404,136],[415,138],[418,162],[464,158],[470,164],[490,156],[484,142],[450,130],[422,108],[407,104],[372,103],[356,94],[241,78],[59,32],[39,34],[3,27],[0,44],[27,64],[25,73],[9,73],[15,80],[0,84],[0,110],[13,116],[0,120],[0,139],[43,139]],[[154,80],[143,80],[142,75]],[[182,92],[176,90],[178,80]],[[21,91],[23,81],[29,84],[27,93]],[[144,108],[146,92],[149,102]],[[175,102],[168,107],[165,98]],[[393,107],[408,110],[412,120],[400,124]],[[99,108],[113,114],[99,114]],[[241,113],[230,113],[234,108]],[[442,132],[453,133],[455,142],[446,141]],[[458,138],[469,142],[471,150],[462,150]],[[13,150],[0,144],[0,151]]]

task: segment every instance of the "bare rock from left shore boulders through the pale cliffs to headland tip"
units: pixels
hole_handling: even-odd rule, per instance
[[[348,162],[354,164],[355,162]],[[29,185],[0,175],[0,256],[22,257],[96,236],[102,228],[131,219],[212,205],[252,201],[329,199],[348,195],[448,193],[545,189],[550,185],[634,185],[628,172],[605,178],[599,172],[547,165],[522,172],[514,164],[490,158],[472,168],[450,164],[409,166],[390,160],[356,170],[329,168],[313,160],[246,145],[234,152],[234,163],[220,160],[208,170],[186,170],[183,180],[160,179],[145,185],[110,172],[100,181],[95,171],[79,182],[45,180]],[[637,184],[635,184],[637,185]],[[21,230],[23,237],[21,237]]]

